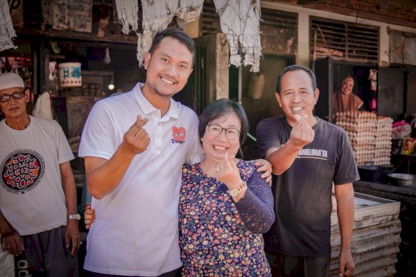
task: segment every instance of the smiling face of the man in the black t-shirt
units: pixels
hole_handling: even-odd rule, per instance
[[[307,123],[313,125],[313,107],[318,101],[319,90],[313,90],[311,77],[303,70],[286,72],[281,78],[281,91],[276,98],[286,114],[289,125],[297,123],[295,114],[308,115]]]

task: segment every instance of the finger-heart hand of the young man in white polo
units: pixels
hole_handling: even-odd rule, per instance
[[[132,154],[140,154],[146,151],[150,143],[150,137],[144,129],[144,125],[148,123],[148,118],[137,116],[135,124],[133,124],[123,136],[121,145]]]

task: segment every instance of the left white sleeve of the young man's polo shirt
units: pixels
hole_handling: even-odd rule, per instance
[[[105,102],[96,102],[85,122],[78,156],[110,159],[116,152],[115,136],[116,131],[110,110]]]

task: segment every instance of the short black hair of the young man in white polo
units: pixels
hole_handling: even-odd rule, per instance
[[[172,37],[174,39],[177,39],[180,43],[184,44],[184,46],[187,46],[189,52],[192,53],[192,64],[191,67],[193,67],[193,64],[195,64],[196,60],[196,47],[195,42],[193,42],[193,39],[187,35],[187,33],[184,33],[183,30],[176,27],[168,27],[165,30],[162,30],[162,32],[157,33],[155,35],[155,38],[153,39],[152,46],[149,49],[149,53],[153,55],[155,53],[157,46],[159,46],[160,42],[162,42],[162,39],[165,37]]]

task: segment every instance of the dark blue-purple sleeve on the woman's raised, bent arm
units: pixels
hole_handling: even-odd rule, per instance
[[[275,222],[272,190],[261,173],[254,169],[244,197],[236,203],[241,219],[253,233],[266,233]]]

